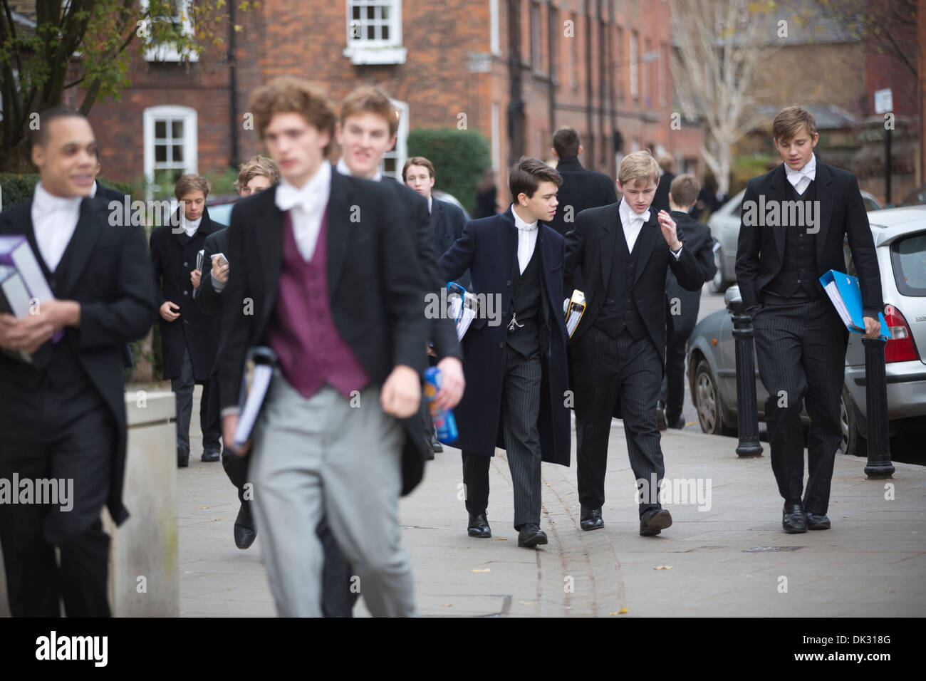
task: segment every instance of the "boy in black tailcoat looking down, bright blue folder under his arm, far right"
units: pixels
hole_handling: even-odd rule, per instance
[[[765,418],[771,468],[784,498],[782,528],[797,534],[830,528],[826,511],[842,436],[839,395],[848,331],[823,294],[820,276],[845,271],[846,238],[858,273],[866,337],[881,333],[878,314],[884,304],[856,176],[814,155],[817,125],[804,107],[783,108],[772,122],[772,135],[784,162],[746,184],[736,279],[745,309],[753,316],[758,371],[769,391]],[[789,207],[800,202],[805,209],[794,213],[805,220],[785,224]],[[757,205],[765,207],[761,215]],[[810,415],[806,487],[801,428],[805,399]]]

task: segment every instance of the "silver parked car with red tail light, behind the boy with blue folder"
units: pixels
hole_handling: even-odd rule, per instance
[[[891,434],[926,427],[926,206],[869,212],[875,252],[881,269],[884,321],[892,340],[885,345],[887,416]],[[848,244],[846,272],[856,275]],[[739,287],[724,295],[739,299]],[[861,334],[849,334],[845,381],[840,404],[843,439],[840,451],[865,454],[868,424],[865,352]],[[698,422],[705,433],[736,433],[736,361],[732,320],[720,309],[698,322],[688,341],[688,380]],[[764,421],[768,393],[756,372],[758,417]],[[808,422],[807,411],[802,420]]]

